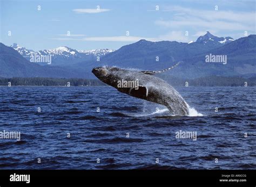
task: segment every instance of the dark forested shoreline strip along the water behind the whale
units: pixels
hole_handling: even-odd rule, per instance
[[[254,87],[256,77],[221,77],[208,76],[194,79],[183,79],[172,76],[159,76],[173,87]],[[13,77],[0,78],[0,87],[105,87],[107,84],[97,79],[84,78],[45,78]]]

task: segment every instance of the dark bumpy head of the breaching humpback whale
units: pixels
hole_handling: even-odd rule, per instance
[[[120,80],[123,69],[116,67],[97,67],[92,69],[92,73],[102,82],[117,87],[117,80]]]

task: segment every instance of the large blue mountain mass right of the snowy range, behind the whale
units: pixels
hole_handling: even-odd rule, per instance
[[[226,42],[223,42],[225,40]],[[206,55],[210,54],[226,55],[227,63],[206,63]],[[212,37],[212,34],[207,32],[190,44],[177,41],[140,40],[104,56],[101,63],[122,68],[161,70],[173,66],[178,61],[182,63],[164,74],[179,78],[255,75],[256,35],[233,41],[231,37]]]

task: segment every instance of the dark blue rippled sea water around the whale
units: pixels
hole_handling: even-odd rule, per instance
[[[0,139],[0,169],[255,169],[256,88],[176,89],[203,116],[111,87],[0,87],[0,131],[21,132]]]

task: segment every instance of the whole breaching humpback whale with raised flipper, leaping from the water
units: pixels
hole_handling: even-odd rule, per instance
[[[111,85],[120,92],[164,105],[175,116],[185,116],[189,114],[188,104],[185,100],[171,85],[161,80],[161,78],[153,76],[154,74],[172,69],[177,65],[178,63],[161,71],[136,71],[117,67],[97,67],[92,69],[92,73],[100,81]],[[120,84],[120,82],[125,82],[125,84]],[[134,83],[133,87],[131,87],[131,83]]]

